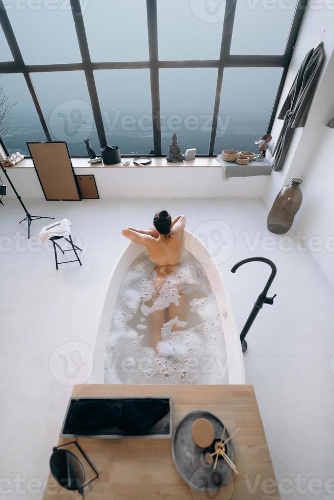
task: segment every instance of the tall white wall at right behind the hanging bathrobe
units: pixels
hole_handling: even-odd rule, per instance
[[[315,46],[320,38],[324,43],[326,59],[309,117],[304,128],[296,129],[282,171],[272,172],[264,199],[270,208],[283,185],[289,184],[293,177],[303,180],[303,203],[296,216],[293,231],[301,232],[303,241],[309,242],[312,257],[334,288],[334,253],[331,251],[334,245],[328,246],[332,243],[330,237],[334,235],[334,129],[326,127],[334,112],[334,5],[331,3],[310,0],[278,110],[290,90],[306,52]],[[281,125],[282,121],[275,119],[272,131],[274,141],[277,140]],[[320,245],[312,244],[316,242]]]

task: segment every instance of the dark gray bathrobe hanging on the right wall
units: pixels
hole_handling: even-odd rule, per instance
[[[305,125],[324,58],[322,42],[307,52],[280,110],[278,119],[284,123],[274,150],[276,172],[282,169],[295,129]]]

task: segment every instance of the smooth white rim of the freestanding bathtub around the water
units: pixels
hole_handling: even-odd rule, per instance
[[[185,231],[184,234],[184,246],[186,250],[201,263],[204,271],[207,273],[213,292],[216,295],[225,338],[229,384],[244,384],[245,372],[239,333],[218,267],[215,264],[214,259],[208,255],[203,243],[188,231]],[[114,311],[118,291],[124,278],[124,274],[129,269],[133,261],[142,252],[146,252],[142,245],[130,242],[121,254],[111,273],[105,304],[102,309],[101,319],[97,331],[94,365],[92,376],[89,381],[92,384],[104,383],[104,355],[106,353],[107,337],[110,330],[111,317]]]

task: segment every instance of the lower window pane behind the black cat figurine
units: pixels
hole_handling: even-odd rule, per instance
[[[66,141],[72,156],[87,156],[84,139],[99,153],[93,112],[83,71],[33,73],[52,140]]]

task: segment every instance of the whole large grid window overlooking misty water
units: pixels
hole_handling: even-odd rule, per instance
[[[0,0],[6,153],[83,139],[122,156],[253,149],[270,132],[307,0]]]

